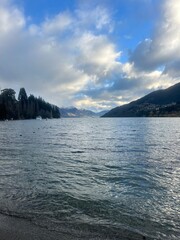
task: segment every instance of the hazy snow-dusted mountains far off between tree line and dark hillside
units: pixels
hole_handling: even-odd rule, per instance
[[[90,110],[78,109],[75,107],[60,108],[59,111],[60,111],[61,117],[64,117],[64,118],[101,117],[102,115],[108,112],[108,111],[102,111],[102,112],[95,113]]]

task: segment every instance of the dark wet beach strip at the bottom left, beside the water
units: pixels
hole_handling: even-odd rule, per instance
[[[96,229],[97,230],[97,229]],[[98,231],[79,229],[74,231],[69,228],[69,232],[48,230],[33,224],[31,221],[0,213],[0,239],[1,240],[143,240],[148,239],[136,233],[119,231],[117,233],[106,233]]]

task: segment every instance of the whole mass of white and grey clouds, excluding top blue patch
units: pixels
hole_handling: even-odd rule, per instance
[[[165,1],[154,36],[122,63],[122,53],[109,37],[114,23],[105,7],[61,12],[29,26],[23,12],[3,0],[0,87],[25,87],[59,106],[93,109],[168,87],[180,76],[179,8],[178,0]]]

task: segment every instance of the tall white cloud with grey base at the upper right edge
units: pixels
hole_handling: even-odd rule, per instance
[[[163,2],[162,19],[152,39],[138,44],[130,60],[140,70],[151,71],[179,61],[180,56],[180,1]]]

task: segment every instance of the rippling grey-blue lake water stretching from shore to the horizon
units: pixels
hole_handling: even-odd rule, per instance
[[[76,237],[180,239],[180,119],[0,122],[0,213]]]

